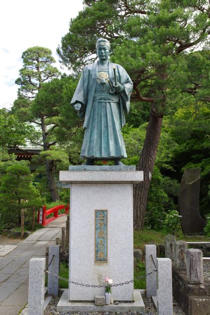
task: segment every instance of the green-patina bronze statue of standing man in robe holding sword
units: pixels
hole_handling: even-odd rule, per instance
[[[94,160],[114,160],[123,165],[127,158],[121,127],[130,109],[133,83],[125,69],[108,60],[110,43],[100,38],[96,43],[98,60],[85,66],[71,100],[81,119],[85,135],[80,157],[84,165]]]

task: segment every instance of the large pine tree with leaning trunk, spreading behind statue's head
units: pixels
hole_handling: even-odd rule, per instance
[[[149,124],[137,166],[145,173],[144,181],[134,187],[134,227],[138,229],[144,223],[148,174],[154,168],[164,115],[177,109],[173,101],[177,92],[209,99],[203,89],[208,76],[194,81],[189,73],[190,59],[185,57],[190,50],[208,43],[210,3],[85,0],[84,4],[84,10],[70,21],[69,32],[57,50],[61,62],[78,74],[85,64],[96,59],[96,40],[104,37],[111,42],[111,60],[122,64],[134,82],[132,100],[149,104]],[[191,57],[199,63],[198,55]],[[186,75],[183,64],[188,70]]]

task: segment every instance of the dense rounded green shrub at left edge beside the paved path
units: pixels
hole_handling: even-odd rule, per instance
[[[13,164],[6,168],[0,185],[1,226],[21,222],[21,209],[31,212],[41,205],[39,195],[32,185],[29,167]]]

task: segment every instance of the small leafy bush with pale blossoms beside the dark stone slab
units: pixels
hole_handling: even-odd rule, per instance
[[[164,221],[164,228],[167,233],[177,235],[181,232],[181,216],[176,210],[169,211]]]

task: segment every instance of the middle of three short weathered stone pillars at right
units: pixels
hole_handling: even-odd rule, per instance
[[[187,243],[184,241],[178,241],[175,243],[175,259],[174,266],[176,270],[186,270],[186,251]]]

